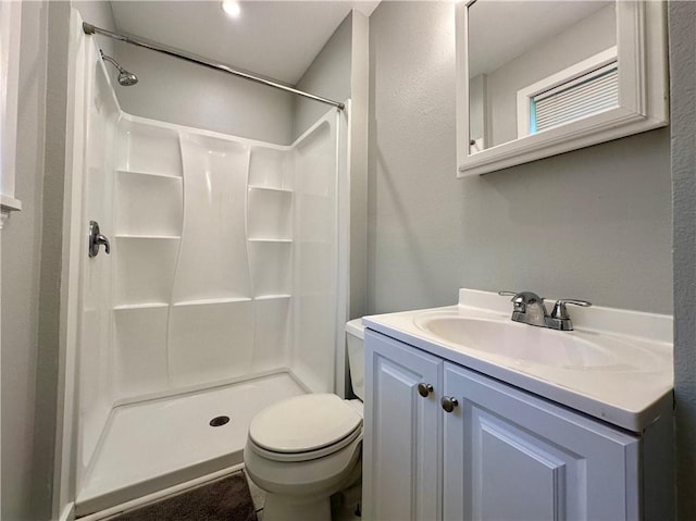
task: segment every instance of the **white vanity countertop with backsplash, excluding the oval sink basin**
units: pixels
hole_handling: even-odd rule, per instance
[[[547,299],[547,307],[552,305]],[[448,342],[419,325],[427,317],[510,321],[509,297],[460,289],[459,305],[365,317],[363,324],[445,360],[534,393],[632,432],[641,432],[672,408],[673,343],[670,315],[611,308],[572,308],[571,335],[601,346],[614,363],[566,368],[515,359]],[[534,327],[514,324],[519,327]],[[529,335],[526,335],[529,336]],[[544,336],[540,336],[544,337]]]

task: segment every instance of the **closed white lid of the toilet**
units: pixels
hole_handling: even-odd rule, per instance
[[[296,396],[259,412],[249,437],[275,452],[306,452],[333,445],[362,425],[362,417],[334,394]]]

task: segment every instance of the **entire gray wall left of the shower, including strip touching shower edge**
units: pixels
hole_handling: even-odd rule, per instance
[[[16,197],[24,208],[2,232],[0,517],[8,521],[51,514],[69,15],[66,2],[23,4]]]

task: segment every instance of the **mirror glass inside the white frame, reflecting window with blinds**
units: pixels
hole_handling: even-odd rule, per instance
[[[468,9],[470,154],[619,107],[613,1]]]

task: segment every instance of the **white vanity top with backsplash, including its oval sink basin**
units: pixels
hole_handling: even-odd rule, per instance
[[[453,364],[445,386],[467,368],[632,432],[671,413],[671,317],[595,306],[573,309],[564,332],[512,322],[511,311],[497,293],[460,289],[455,306],[362,321],[368,342],[384,335]]]

